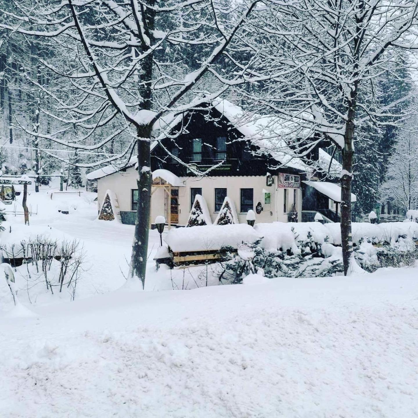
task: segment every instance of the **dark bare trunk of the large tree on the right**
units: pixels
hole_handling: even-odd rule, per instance
[[[341,176],[341,244],[344,275],[347,275],[350,258],[353,252],[351,234],[351,182],[353,171],[353,138],[354,138],[355,105],[349,107],[342,152]]]

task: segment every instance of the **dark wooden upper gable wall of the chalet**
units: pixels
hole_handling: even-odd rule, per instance
[[[267,172],[298,173],[298,170],[288,167],[277,168],[278,162],[270,155],[253,155],[257,148],[249,140],[242,139],[242,133],[214,108],[187,114],[182,122],[173,127],[172,132],[181,130],[177,138],[165,138],[161,141],[163,146],[157,145],[154,148],[151,155],[152,170],[165,168],[177,176],[194,175],[187,166],[171,158],[166,148],[184,163],[206,171],[222,161],[219,155],[223,157],[223,150],[218,148],[217,138],[226,138],[226,160],[210,171],[211,177],[265,176]],[[198,158],[193,152],[194,139],[201,140],[201,155]]]

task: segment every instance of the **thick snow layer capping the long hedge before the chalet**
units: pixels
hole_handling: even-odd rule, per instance
[[[352,235],[355,245],[364,237],[374,244],[387,242],[393,245],[400,237],[418,240],[418,223],[353,222]],[[263,239],[260,247],[265,250],[291,250],[295,255],[308,248],[330,255],[334,253],[333,245],[341,245],[340,224],[320,222],[273,222],[255,224],[254,227],[247,224],[229,224],[176,228],[168,232],[166,243],[174,252],[192,252],[219,250],[224,246],[237,248],[242,241],[254,242],[261,237]]]

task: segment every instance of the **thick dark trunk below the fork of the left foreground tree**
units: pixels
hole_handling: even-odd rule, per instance
[[[145,270],[148,256],[148,234],[151,206],[152,173],[150,168],[151,126],[138,128],[138,208],[129,278],[140,279],[145,286]]]

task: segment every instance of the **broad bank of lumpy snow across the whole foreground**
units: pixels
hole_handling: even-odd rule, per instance
[[[0,321],[18,417],[418,416],[418,268],[127,292]]]

